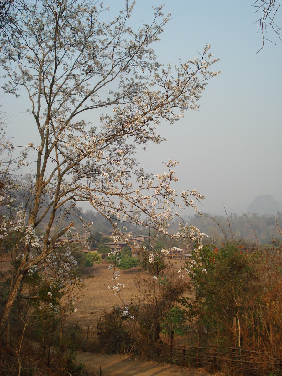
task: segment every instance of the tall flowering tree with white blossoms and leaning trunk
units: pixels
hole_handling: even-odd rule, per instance
[[[133,154],[138,145],[164,140],[157,133],[162,120],[173,124],[185,110],[197,109],[206,81],[218,74],[210,71],[217,59],[209,53],[209,45],[199,58],[180,61],[174,74],[170,65],[164,68],[156,62],[150,44],[169,20],[162,6],[155,7],[149,24],[134,32],[127,26],[133,9],[127,2],[111,22],[100,20],[107,8],[94,2],[41,0],[24,5],[24,12],[9,9],[0,64],[6,72],[5,92],[18,97],[21,88],[29,98],[39,141],[38,146],[29,143],[19,161],[19,165],[33,163],[34,183],[30,180],[26,210],[15,212],[14,222],[23,216],[24,241],[2,312],[1,333],[24,277],[50,258],[56,240],[73,225],[62,223],[76,202],[89,202],[108,218],[116,234],[116,219],[167,233],[168,221],[180,219],[177,205],[197,210],[193,199],[203,196],[196,190],[177,195],[171,187],[177,181],[173,171],[177,162],[168,161],[165,173],[152,176],[137,168]],[[99,109],[105,111],[99,124],[83,120],[86,111]],[[8,186],[1,189],[7,192]],[[35,229],[43,219],[48,224],[39,241]],[[8,236],[7,221],[2,222],[3,238]],[[200,244],[199,230],[180,222],[175,237],[190,237]]]

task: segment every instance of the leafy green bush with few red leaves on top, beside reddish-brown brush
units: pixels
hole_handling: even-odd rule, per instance
[[[199,317],[203,323],[217,318],[228,327],[246,299],[253,283],[253,270],[247,253],[227,244],[219,251],[206,246],[199,253],[200,265],[190,269],[195,298],[188,304],[191,320]],[[202,264],[202,265],[201,265]]]

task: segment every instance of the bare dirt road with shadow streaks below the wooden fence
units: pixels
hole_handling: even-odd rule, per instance
[[[88,371],[100,371],[103,376],[207,376],[208,373],[200,373],[187,368],[170,364],[159,364],[148,361],[142,362],[127,356],[114,355],[102,356],[82,353],[77,356],[79,362],[83,362]]]

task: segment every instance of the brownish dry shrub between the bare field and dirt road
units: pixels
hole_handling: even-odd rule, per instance
[[[121,256],[122,259],[123,256]],[[115,283],[120,277],[114,273]],[[175,304],[186,291],[188,285],[179,279],[168,263],[159,277],[140,271],[134,276],[137,294],[130,305],[120,308],[115,306],[111,313],[105,312],[97,324],[97,336],[100,346],[108,353],[146,353],[160,340],[164,327],[171,330],[179,324],[180,308]],[[116,283],[113,287],[115,294],[121,296],[123,284]],[[111,288],[111,287],[109,287]],[[170,318],[172,320],[170,320]],[[182,327],[176,332],[182,334]]]

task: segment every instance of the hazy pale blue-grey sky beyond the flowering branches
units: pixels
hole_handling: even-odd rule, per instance
[[[136,0],[130,23],[152,20],[151,0]],[[171,20],[161,41],[154,44],[158,61],[177,64],[198,56],[207,43],[221,60],[214,65],[221,75],[210,80],[200,100],[200,111],[188,111],[174,126],[162,124],[167,143],[151,145],[137,158],[148,172],[164,171],[163,161],[176,159],[181,191],[196,188],[206,196],[202,211],[241,214],[260,194],[271,194],[282,206],[282,42],[269,30],[276,45],[262,45],[256,34],[258,15],[253,1],[168,0]],[[123,8],[120,0],[105,0],[109,15]],[[282,15],[282,12],[281,12]],[[277,18],[282,24],[282,18]],[[112,17],[109,17],[109,19]],[[11,114],[8,132],[14,144],[26,144],[34,132],[23,99],[2,96]]]

